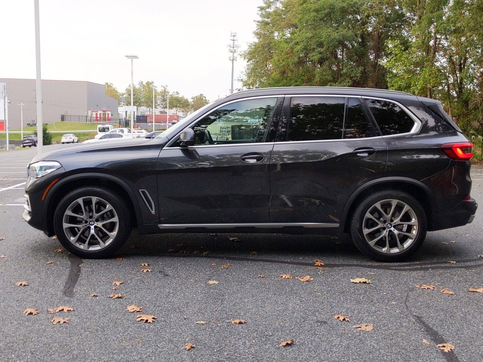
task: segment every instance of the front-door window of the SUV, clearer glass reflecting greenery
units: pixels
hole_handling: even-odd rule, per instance
[[[195,144],[263,142],[276,103],[276,97],[256,98],[233,102],[218,108],[194,125]],[[179,147],[179,142],[171,146]]]

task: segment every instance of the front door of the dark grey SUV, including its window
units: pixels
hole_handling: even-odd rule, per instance
[[[182,147],[174,138],[163,148],[160,222],[268,223],[274,144],[269,130],[276,127],[282,101],[256,97],[229,102],[191,125],[194,146]]]

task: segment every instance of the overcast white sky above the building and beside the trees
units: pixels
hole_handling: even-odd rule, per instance
[[[229,93],[230,31],[253,42],[262,0],[40,0],[42,79],[153,80],[185,97]],[[33,0],[1,0],[0,78],[35,78]],[[235,79],[244,69],[235,62]],[[238,82],[235,82],[235,88]]]

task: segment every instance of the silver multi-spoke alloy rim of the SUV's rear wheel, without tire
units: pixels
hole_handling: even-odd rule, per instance
[[[369,246],[385,254],[408,249],[418,235],[418,219],[405,202],[387,199],[376,202],[364,216],[362,232]]]

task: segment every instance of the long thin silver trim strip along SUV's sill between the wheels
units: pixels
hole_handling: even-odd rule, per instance
[[[185,223],[158,224],[160,229],[189,229],[206,227],[209,229],[232,229],[235,227],[255,227],[259,229],[282,228],[285,226],[301,226],[305,228],[339,227],[339,223]]]

